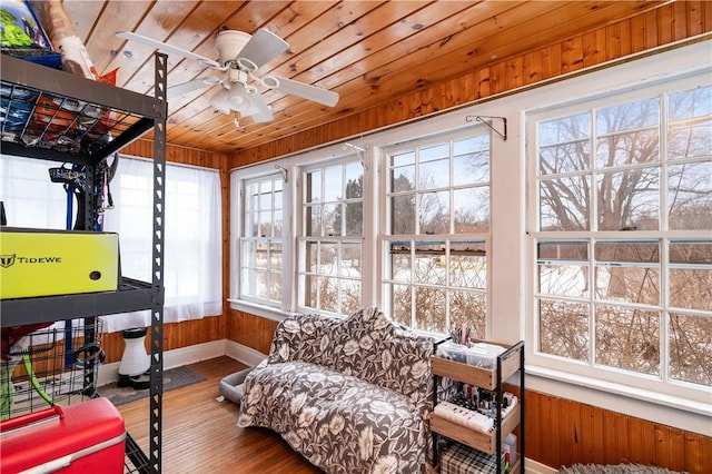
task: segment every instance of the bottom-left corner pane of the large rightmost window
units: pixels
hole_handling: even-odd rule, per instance
[[[541,299],[538,312],[542,353],[589,361],[589,305]]]

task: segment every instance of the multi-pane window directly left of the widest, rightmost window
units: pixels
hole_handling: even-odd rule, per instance
[[[394,319],[445,333],[487,320],[490,134],[388,150],[384,293]]]

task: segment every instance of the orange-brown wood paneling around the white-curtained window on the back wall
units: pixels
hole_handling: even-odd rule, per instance
[[[121,150],[123,155],[152,158],[154,141],[139,139]],[[195,344],[209,343],[226,338],[227,317],[229,305],[229,230],[230,230],[230,175],[227,167],[227,157],[221,154],[202,151],[192,148],[166,147],[166,159],[181,165],[215,168],[220,172],[220,187],[222,198],[222,314],[204,319],[195,319],[182,323],[171,323],[164,326],[164,350],[177,349]],[[119,165],[120,166],[120,165]],[[148,340],[146,342],[148,349]],[[107,353],[106,363],[121,361],[123,354],[123,338],[121,333],[110,333],[102,336],[101,345]]]

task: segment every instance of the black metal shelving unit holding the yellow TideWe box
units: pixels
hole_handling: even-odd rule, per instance
[[[166,174],[167,62],[166,55],[155,55],[155,97],[150,97],[0,55],[2,152],[83,165],[88,180],[88,190],[85,196],[87,209],[93,209],[96,203],[92,186],[97,172],[96,165],[152,130],[152,280],[145,283],[120,278],[116,292],[0,300],[2,327],[151,310],[149,455],[146,456],[130,435],[127,436],[126,444],[127,458],[130,458],[132,466],[141,473],[161,472],[162,223]],[[68,122],[66,108],[62,105],[69,102],[72,103],[77,112],[73,121],[70,118]],[[51,105],[56,105],[56,107],[52,108]],[[92,120],[90,116],[85,116],[86,110],[91,110],[95,115],[100,111],[100,119],[91,116],[96,118]],[[27,115],[24,122],[21,120],[23,113]],[[37,120],[38,118],[41,120]],[[52,139],[44,140],[43,137],[49,137],[50,134]],[[62,134],[66,134],[66,140],[58,139],[58,137],[62,137]],[[107,139],[108,137],[110,139]],[[67,146],[66,144],[71,145]],[[93,219],[93,213],[87,213],[87,220],[89,219]]]

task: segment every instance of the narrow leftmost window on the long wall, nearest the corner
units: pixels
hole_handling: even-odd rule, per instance
[[[277,306],[283,292],[284,181],[274,175],[244,184],[240,297]]]

